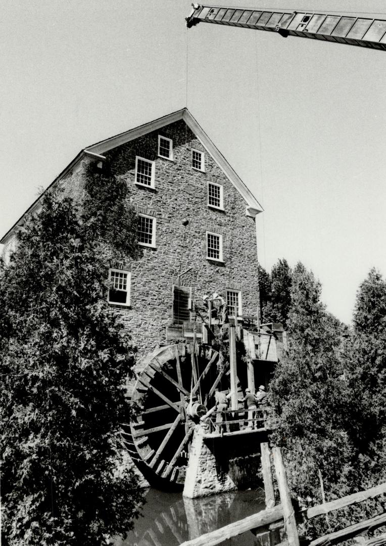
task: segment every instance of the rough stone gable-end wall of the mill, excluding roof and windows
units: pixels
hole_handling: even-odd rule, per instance
[[[157,156],[158,135],[173,139],[173,161]],[[112,170],[126,180],[129,199],[157,220],[156,248],[143,247],[142,257],[127,259],[131,270],[131,307],[114,306],[121,314],[139,356],[165,345],[172,322],[173,277],[192,268],[181,285],[192,299],[204,293],[242,291],[242,313],[256,315],[258,304],[256,228],[245,214],[246,202],[205,152],[205,172],[192,169],[191,149],[205,152],[185,122],[141,136],[105,154]],[[155,188],[134,182],[135,157],[155,161]],[[224,211],[207,206],[209,177],[223,186]],[[187,227],[182,220],[188,219]],[[223,263],[206,259],[206,231],[223,235]],[[194,313],[192,313],[194,319]]]

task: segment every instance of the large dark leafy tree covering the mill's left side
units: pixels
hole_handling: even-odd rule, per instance
[[[138,513],[136,478],[117,467],[134,348],[106,304],[87,206],[46,194],[0,272],[3,546],[100,546]]]

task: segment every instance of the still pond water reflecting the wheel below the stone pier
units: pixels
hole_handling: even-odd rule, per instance
[[[178,546],[264,508],[261,489],[194,499],[183,497],[182,492],[149,489],[142,517],[135,521],[134,529],[126,539],[115,541],[115,546]],[[256,537],[248,531],[222,544],[254,546]]]

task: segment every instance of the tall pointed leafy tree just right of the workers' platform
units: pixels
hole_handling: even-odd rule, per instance
[[[347,434],[351,399],[339,379],[340,329],[320,301],[320,290],[312,272],[298,263],[290,290],[288,353],[270,383],[272,440],[283,449],[294,497],[313,503],[321,502],[319,471],[330,498],[348,491],[354,449]]]

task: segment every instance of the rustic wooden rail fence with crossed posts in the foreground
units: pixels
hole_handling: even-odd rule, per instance
[[[280,546],[299,546],[299,534],[298,527],[296,525],[296,515],[299,518],[306,518],[308,520],[315,518],[318,515],[329,514],[330,512],[345,508],[353,504],[357,504],[374,498],[386,493],[386,483],[382,483],[367,489],[366,491],[359,491],[352,495],[347,495],[342,498],[338,498],[331,502],[322,503],[317,506],[305,509],[295,514],[293,507],[286,469],[284,468],[283,458],[280,448],[272,449],[272,457],[275,465],[277,485],[280,495],[281,504],[275,506],[274,485],[271,472],[271,453],[268,447],[268,443],[260,444],[262,451],[262,471],[265,490],[265,504],[266,509],[253,514],[239,521],[235,521],[221,529],[206,533],[191,541],[184,542],[181,546],[216,546],[221,542],[241,535],[247,531],[253,530],[254,534],[258,532],[259,527],[268,526],[268,533],[272,529],[278,527],[284,528],[286,538],[280,543]],[[349,525],[344,529],[328,533],[322,537],[316,538],[311,542],[308,542],[307,546],[332,546],[333,544],[339,544],[343,541],[347,541],[349,538],[353,538],[359,535],[363,535],[366,532],[372,532],[379,527],[386,526],[386,512],[377,514],[375,517],[360,521],[353,525]],[[261,536],[264,533],[259,533]],[[385,546],[386,545],[386,533],[372,537],[360,543],[360,546]]]

